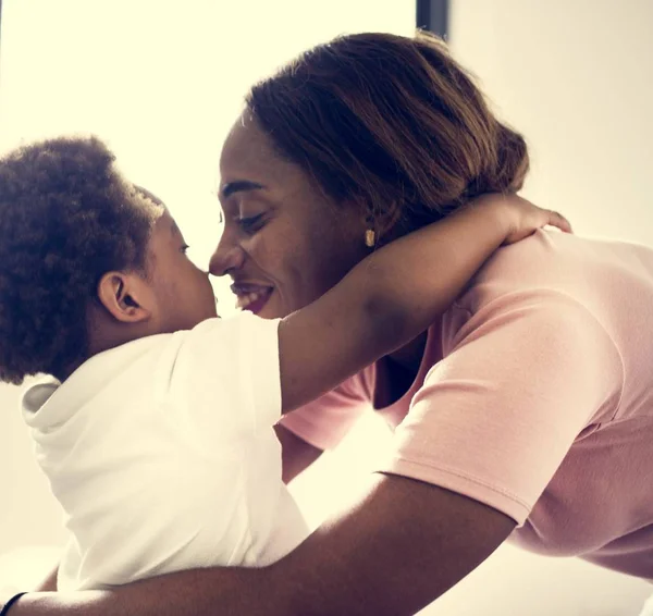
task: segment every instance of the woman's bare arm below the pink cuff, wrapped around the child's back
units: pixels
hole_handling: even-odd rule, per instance
[[[410,616],[485,559],[514,526],[465,496],[378,476],[354,509],[270,567],[28,594],[11,616]]]

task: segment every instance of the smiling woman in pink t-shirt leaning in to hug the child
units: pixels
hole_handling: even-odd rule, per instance
[[[440,42],[338,38],[252,88],[222,153],[211,271],[280,317],[527,169]],[[279,429],[291,479],[366,405],[396,427],[368,493],[286,558],[12,614],[409,615],[508,537],[653,580],[652,303],[648,249],[543,232],[504,248],[427,332]]]

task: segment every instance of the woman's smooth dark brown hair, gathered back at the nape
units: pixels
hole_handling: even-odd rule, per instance
[[[338,37],[246,100],[281,156],[336,202],[362,205],[380,230],[410,231],[482,193],[516,192],[529,167],[521,135],[426,33]]]

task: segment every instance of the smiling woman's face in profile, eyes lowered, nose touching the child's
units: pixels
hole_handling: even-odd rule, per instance
[[[232,276],[241,308],[285,317],[367,255],[361,210],[325,197],[247,112],[224,143],[220,172],[224,231],[210,271]]]

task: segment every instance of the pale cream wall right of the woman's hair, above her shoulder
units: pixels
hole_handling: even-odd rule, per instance
[[[451,44],[529,141],[526,194],[653,245],[653,2],[452,0]]]

